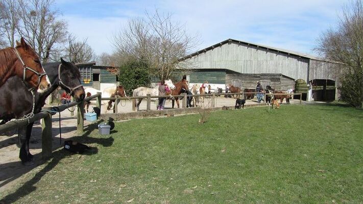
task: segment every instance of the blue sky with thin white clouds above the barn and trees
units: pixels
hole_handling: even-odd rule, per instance
[[[338,0],[58,0],[68,30],[87,38],[96,54],[112,53],[111,38],[128,19],[145,11],[173,14],[189,35],[199,35],[202,49],[228,38],[316,55],[317,38],[334,27],[348,1]],[[197,51],[197,50],[194,50]]]

